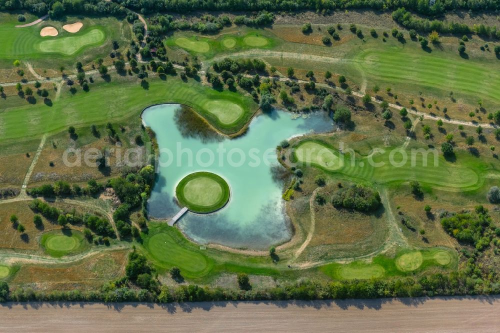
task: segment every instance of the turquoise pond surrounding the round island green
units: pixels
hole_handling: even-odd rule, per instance
[[[156,133],[160,149],[157,177],[148,202],[151,217],[168,219],[180,207],[175,202],[177,183],[195,171],[210,171],[229,184],[231,196],[222,209],[210,214],[187,212],[180,230],[201,243],[264,249],[291,237],[289,219],[281,198],[283,182],[276,176],[284,168],[276,160],[276,145],[283,139],[311,131],[325,132],[333,121],[324,112],[292,118],[273,110],[255,117],[246,134],[228,139],[186,137],[176,123],[176,104],[148,107],[143,122]]]

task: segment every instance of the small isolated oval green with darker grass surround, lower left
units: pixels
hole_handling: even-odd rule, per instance
[[[41,235],[40,244],[49,255],[61,257],[66,254],[81,252],[88,243],[78,230],[52,230]]]

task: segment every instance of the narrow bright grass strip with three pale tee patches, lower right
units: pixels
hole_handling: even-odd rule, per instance
[[[442,259],[438,261],[437,257]],[[457,263],[456,253],[451,249],[435,247],[403,250],[395,258],[377,255],[371,262],[363,260],[345,264],[333,262],[319,267],[319,270],[333,279],[369,279],[404,276],[425,270],[449,270],[456,268]]]

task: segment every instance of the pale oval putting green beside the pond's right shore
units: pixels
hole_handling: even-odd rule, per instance
[[[316,141],[303,141],[295,148],[298,161],[306,164],[315,164],[328,170],[336,170],[343,166],[343,160],[338,152]]]

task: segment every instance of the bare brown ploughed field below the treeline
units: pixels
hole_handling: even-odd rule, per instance
[[[491,332],[500,298],[199,303],[5,303],[0,331]],[[105,328],[104,328],[105,327]]]

